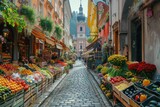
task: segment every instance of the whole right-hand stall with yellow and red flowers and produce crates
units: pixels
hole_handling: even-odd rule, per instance
[[[160,81],[152,79],[154,64],[127,62],[121,55],[112,55],[108,61],[108,66],[99,65],[96,71],[100,88],[113,106],[160,107]]]

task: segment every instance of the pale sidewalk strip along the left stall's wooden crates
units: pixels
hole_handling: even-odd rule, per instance
[[[55,80],[55,82],[48,88],[48,90],[46,90],[46,92],[44,92],[37,100],[34,104],[31,105],[31,107],[39,107],[40,105],[42,105],[47,98],[52,95],[52,92],[54,91],[54,89],[62,82],[62,80],[66,77],[66,73],[63,74],[60,78],[58,78],[57,80]]]

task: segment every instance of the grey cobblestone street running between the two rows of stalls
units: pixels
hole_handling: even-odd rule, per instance
[[[105,107],[80,61],[41,107]],[[109,105],[107,107],[110,107]]]

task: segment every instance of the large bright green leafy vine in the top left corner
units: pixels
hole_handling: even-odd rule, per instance
[[[22,32],[26,26],[23,16],[18,14],[18,8],[10,1],[3,0],[0,2],[0,11],[4,19],[4,23],[8,23],[12,27],[17,25],[18,32]]]

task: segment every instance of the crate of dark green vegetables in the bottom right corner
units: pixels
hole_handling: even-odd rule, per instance
[[[154,107],[160,107],[160,98],[156,96],[151,96],[149,99],[147,99],[141,104],[141,107],[153,107],[151,105],[154,105]]]

